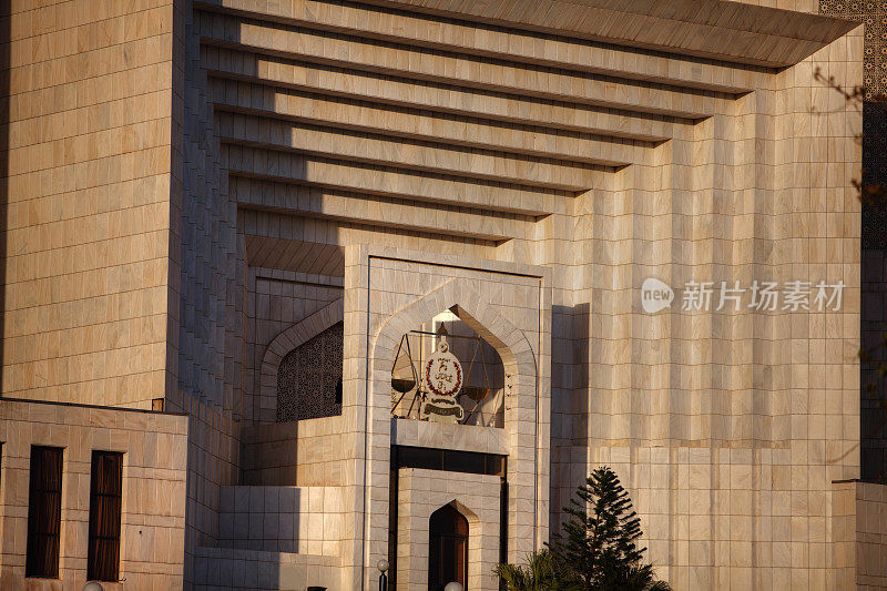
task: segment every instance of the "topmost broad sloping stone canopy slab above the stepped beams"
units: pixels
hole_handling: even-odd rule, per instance
[[[364,0],[594,41],[785,68],[858,23],[726,0]]]

